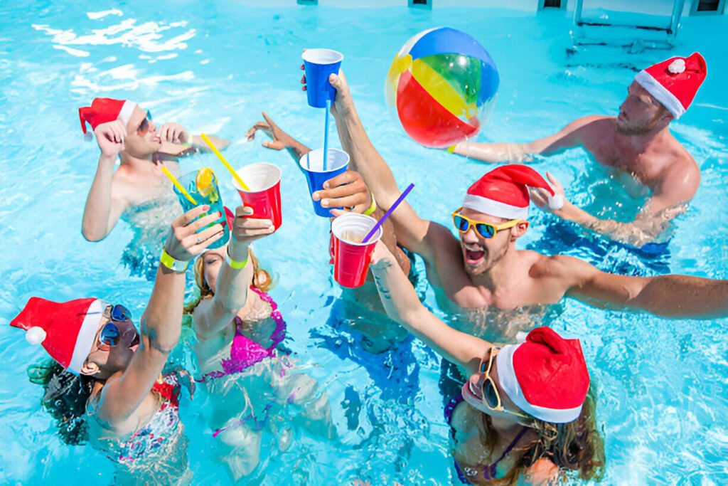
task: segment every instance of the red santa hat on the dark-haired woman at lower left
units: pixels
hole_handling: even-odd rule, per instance
[[[96,339],[108,304],[100,299],[52,302],[31,297],[10,325],[25,330],[25,339],[41,344],[51,358],[78,375]]]

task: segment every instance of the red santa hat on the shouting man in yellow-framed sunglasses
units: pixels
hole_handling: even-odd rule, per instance
[[[531,202],[529,187],[540,187],[550,193],[549,208],[563,208],[563,197],[526,165],[501,165],[486,173],[467,189],[462,207],[499,218],[526,219]]]

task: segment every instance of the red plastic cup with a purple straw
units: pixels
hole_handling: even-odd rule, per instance
[[[371,254],[381,238],[381,228],[368,243],[361,243],[361,240],[375,224],[376,219],[357,213],[343,214],[331,223],[333,279],[339,285],[353,289],[362,286],[366,280]]]

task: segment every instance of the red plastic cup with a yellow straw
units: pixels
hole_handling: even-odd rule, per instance
[[[253,214],[247,217],[270,219],[275,230],[278,230],[283,221],[280,211],[280,168],[268,162],[256,162],[236,172],[250,188],[249,191],[242,189],[232,178],[232,185],[240,194],[243,205],[253,208]]]

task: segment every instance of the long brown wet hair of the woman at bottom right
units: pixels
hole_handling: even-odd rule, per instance
[[[497,432],[493,428],[490,415],[482,415],[485,430],[483,444],[492,450]],[[593,388],[589,388],[577,420],[569,423],[550,423],[537,418],[531,420],[538,439],[519,448],[526,451],[523,461],[503,479],[508,478],[515,482],[523,469],[532,466],[541,458],[546,458],[558,466],[560,471],[574,471],[579,479],[597,482],[601,480],[605,463],[604,439],[596,423],[596,392]]]

